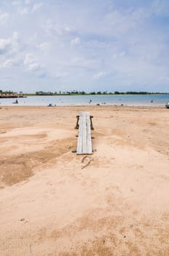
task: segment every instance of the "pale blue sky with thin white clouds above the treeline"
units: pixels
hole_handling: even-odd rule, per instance
[[[169,1],[0,0],[0,89],[169,92]]]

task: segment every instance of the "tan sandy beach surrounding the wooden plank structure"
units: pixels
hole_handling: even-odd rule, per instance
[[[76,115],[94,116],[93,161]],[[169,110],[1,107],[0,255],[169,255]]]

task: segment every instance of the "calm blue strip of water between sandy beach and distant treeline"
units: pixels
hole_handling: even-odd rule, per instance
[[[164,106],[169,101],[166,95],[90,95],[90,96],[34,96],[19,98],[18,104],[12,104],[15,99],[0,99],[1,106],[9,105],[127,105],[127,106]],[[91,100],[91,102],[90,102]],[[152,101],[152,102],[151,102]],[[90,102],[90,103],[89,103]]]

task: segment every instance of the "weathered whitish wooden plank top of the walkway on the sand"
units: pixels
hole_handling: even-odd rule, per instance
[[[77,140],[76,154],[92,153],[90,113],[81,112],[79,115],[79,135]]]

